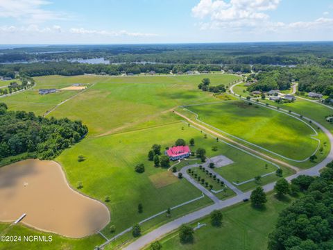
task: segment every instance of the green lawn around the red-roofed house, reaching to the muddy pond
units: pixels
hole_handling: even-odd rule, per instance
[[[139,222],[161,210],[201,195],[199,190],[187,183],[184,178],[179,180],[173,177],[176,179],[163,187],[157,187],[159,183],[153,181],[155,178],[152,177],[157,174],[169,172],[160,167],[153,167],[153,163],[148,161],[147,153],[151,145],[161,144],[163,150],[173,145],[178,138],[183,138],[187,142],[190,138],[194,138],[196,143],[191,147],[192,151],[197,147],[203,147],[208,157],[223,154],[234,160],[236,167],[247,166],[246,161],[241,160],[244,152],[222,142],[216,142],[214,138],[205,139],[199,131],[183,123],[101,138],[87,138],[62,153],[56,160],[65,168],[71,185],[75,187],[78,181],[83,183],[81,192],[101,201],[105,196],[110,197],[110,202],[105,204],[110,209],[110,224],[116,225],[119,233],[121,229],[132,226],[133,222]],[[211,150],[212,144],[216,144],[217,151]],[[86,160],[79,163],[78,155],[85,156]],[[265,165],[264,161],[257,158],[253,161],[258,165]],[[144,174],[137,174],[134,171],[137,163],[144,163],[146,166]],[[253,176],[249,175],[249,178]],[[143,204],[144,213],[137,213],[138,203]],[[105,233],[108,233],[107,228]]]

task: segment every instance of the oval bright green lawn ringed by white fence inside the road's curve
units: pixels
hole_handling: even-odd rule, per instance
[[[275,110],[249,106],[244,101],[187,108],[221,131],[294,160],[311,156],[318,147],[310,136],[314,131],[307,124]]]

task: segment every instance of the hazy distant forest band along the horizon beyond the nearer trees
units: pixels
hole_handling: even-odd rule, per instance
[[[0,50],[0,63],[105,58],[111,63],[262,64],[332,66],[332,42],[238,44],[66,45]]]

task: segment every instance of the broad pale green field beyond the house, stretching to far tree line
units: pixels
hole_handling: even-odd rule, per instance
[[[204,77],[209,77],[214,85],[227,84],[238,78],[223,74],[131,77],[44,76],[36,78],[36,82],[37,88],[60,85],[65,87],[72,83],[96,83],[86,92],[57,108],[50,116],[80,119],[87,124],[89,135],[98,135],[175,122],[177,117],[171,117],[168,112],[171,108],[197,102],[219,101],[213,94],[198,90],[197,85]],[[10,103],[8,105],[10,106]],[[48,109],[45,108],[44,111]]]

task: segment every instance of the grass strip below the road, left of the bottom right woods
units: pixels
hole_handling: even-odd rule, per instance
[[[210,224],[210,217],[191,224],[193,227],[198,222],[207,224],[195,231],[194,244],[180,244],[178,231],[171,233],[159,240],[162,249],[267,249],[268,234],[273,231],[279,213],[293,200],[279,201],[273,194],[267,198],[264,210],[254,209],[250,203],[222,210],[223,221],[219,228]]]

